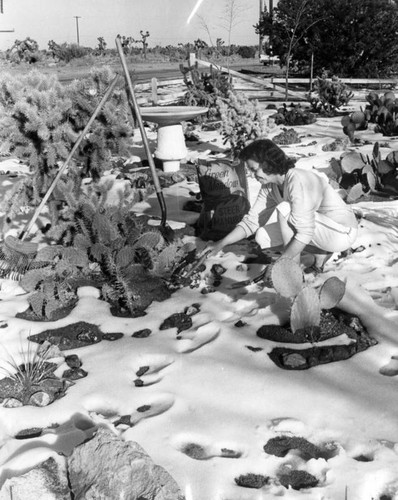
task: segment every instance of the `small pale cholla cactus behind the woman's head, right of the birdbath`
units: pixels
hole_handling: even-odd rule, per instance
[[[226,100],[217,100],[217,105],[222,120],[224,144],[231,146],[234,157],[237,157],[249,142],[267,137],[267,120],[257,101],[252,102],[243,93],[231,90]]]

